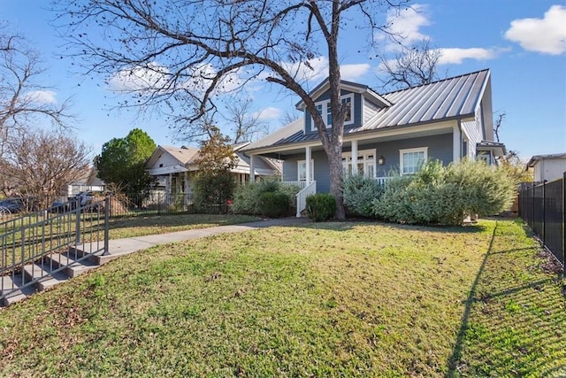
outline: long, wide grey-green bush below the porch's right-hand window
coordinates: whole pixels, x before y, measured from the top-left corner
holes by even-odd
[[[508,209],[514,188],[508,174],[484,162],[442,166],[432,160],[417,174],[388,181],[371,209],[376,217],[398,223],[458,225],[470,214]]]

